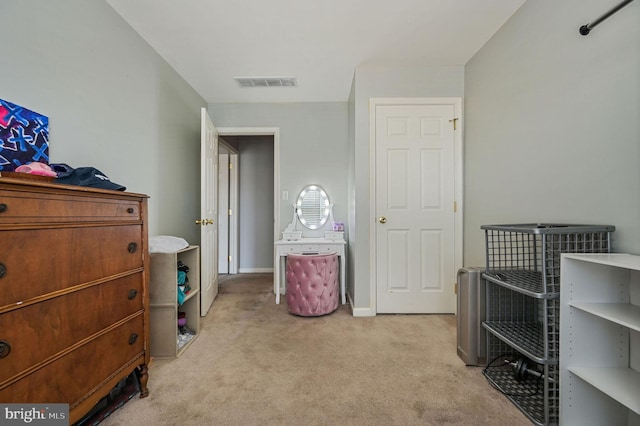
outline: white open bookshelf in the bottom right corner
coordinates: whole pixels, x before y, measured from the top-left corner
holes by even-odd
[[[640,425],[640,256],[563,254],[560,423]]]

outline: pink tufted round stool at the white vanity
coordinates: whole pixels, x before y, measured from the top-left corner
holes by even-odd
[[[330,314],[338,309],[338,255],[287,255],[289,312],[303,317]]]

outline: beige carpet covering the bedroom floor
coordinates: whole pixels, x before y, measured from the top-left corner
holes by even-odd
[[[453,315],[302,318],[272,274],[229,276],[193,344],[154,360],[147,398],[102,425],[530,425],[456,355]]]

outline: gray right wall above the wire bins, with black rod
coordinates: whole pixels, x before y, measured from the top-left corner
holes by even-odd
[[[529,0],[465,68],[464,263],[480,225],[616,225],[640,253],[640,3]]]

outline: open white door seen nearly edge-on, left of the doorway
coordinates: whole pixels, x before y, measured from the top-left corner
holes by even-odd
[[[201,110],[200,154],[200,315],[218,294],[218,132],[206,108]]]

